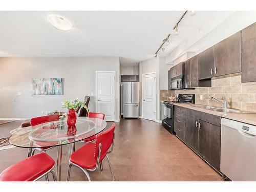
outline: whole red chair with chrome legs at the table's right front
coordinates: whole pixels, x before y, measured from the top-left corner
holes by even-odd
[[[90,172],[96,170],[99,163],[102,162],[105,157],[108,159],[113,181],[115,181],[115,176],[108,157],[108,154],[113,150],[114,139],[115,123],[112,124],[110,129],[96,135],[95,143],[87,143],[72,153],[69,159],[67,181],[69,181],[70,178],[70,170],[72,165],[80,168],[83,173],[86,174],[88,180],[91,181],[87,170]]]

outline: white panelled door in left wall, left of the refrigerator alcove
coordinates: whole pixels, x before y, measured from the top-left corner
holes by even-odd
[[[96,112],[115,120],[115,72],[96,71]]]

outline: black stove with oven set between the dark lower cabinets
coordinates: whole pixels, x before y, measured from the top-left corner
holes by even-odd
[[[163,127],[170,132],[174,132],[174,103],[195,103],[195,94],[179,94],[178,101],[161,102],[161,119]]]

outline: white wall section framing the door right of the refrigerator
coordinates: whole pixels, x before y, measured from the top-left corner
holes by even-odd
[[[160,120],[160,98],[159,98],[159,58],[154,57],[139,63],[140,73],[140,103],[142,105],[142,74],[156,72],[156,120]],[[140,116],[142,107],[140,106]]]

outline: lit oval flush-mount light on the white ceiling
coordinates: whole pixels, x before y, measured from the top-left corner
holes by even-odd
[[[57,29],[62,31],[68,31],[72,28],[71,23],[64,17],[58,15],[49,15],[49,22]]]

